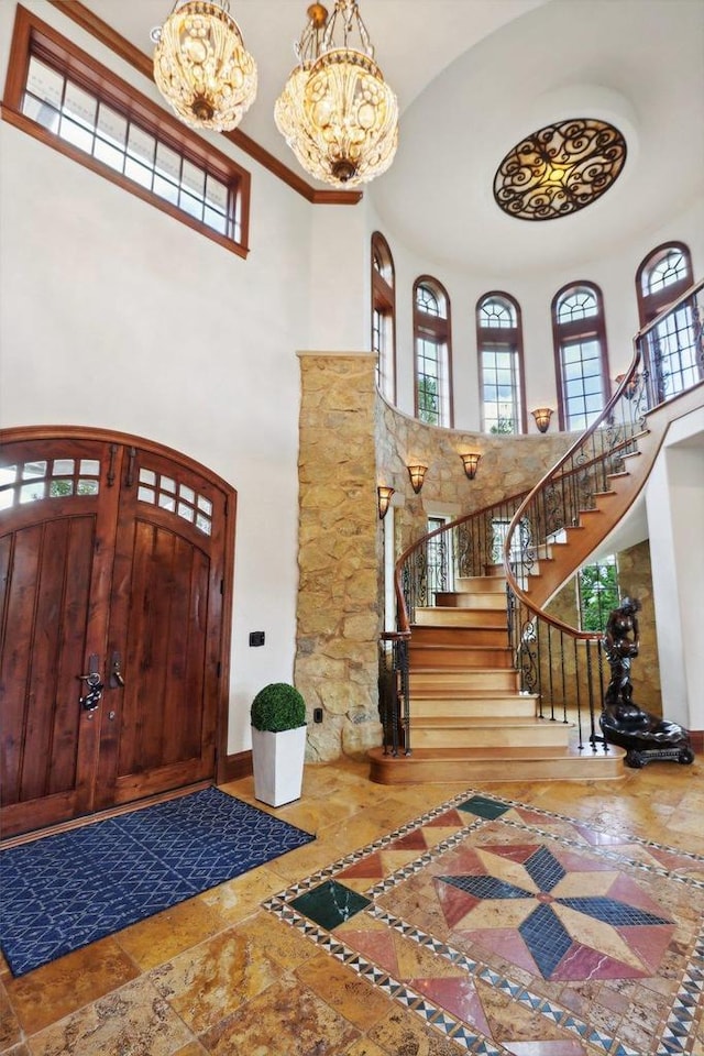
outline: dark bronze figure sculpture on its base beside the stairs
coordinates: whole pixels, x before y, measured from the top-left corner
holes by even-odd
[[[623,597],[606,624],[602,648],[610,668],[600,725],[606,741],[626,749],[626,765],[635,769],[652,759],[690,763],[694,752],[686,729],[638,707],[632,701],[630,668],[640,651],[637,613],[640,602]]]

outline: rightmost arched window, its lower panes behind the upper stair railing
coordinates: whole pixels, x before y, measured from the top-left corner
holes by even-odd
[[[636,273],[640,326],[649,322],[678,300],[692,285],[692,260],[682,242],[659,245],[642,261]],[[689,304],[670,312],[645,334],[646,366],[654,380],[660,400],[696,385],[702,380],[696,339]]]

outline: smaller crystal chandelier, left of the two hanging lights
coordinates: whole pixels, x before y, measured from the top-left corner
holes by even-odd
[[[156,86],[191,128],[233,129],[254,102],[256,64],[229,10],[229,0],[176,0],[152,30]]]

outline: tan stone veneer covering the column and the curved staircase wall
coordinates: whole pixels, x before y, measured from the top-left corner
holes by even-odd
[[[376,485],[395,488],[394,553],[398,557],[425,535],[429,515],[460,517],[527,491],[574,437],[559,432],[493,437],[427,426],[397,411],[378,395],[374,356],[306,352],[299,360],[299,588],[294,681],[308,708],[307,758],[326,761],[362,754],[382,739],[377,678],[384,610],[383,529]],[[464,474],[460,453],[465,451],[482,454],[474,481]],[[406,469],[411,461],[428,465],[419,495],[414,493]],[[648,553],[638,551],[634,548],[619,556],[619,568],[624,588],[628,584],[644,603],[641,654],[648,664],[634,671],[639,680],[638,703],[656,711],[651,689],[657,685],[659,690],[657,653],[648,638],[654,637],[654,629],[652,625],[647,629],[648,612],[652,613],[650,563]],[[573,587],[570,608],[574,608]],[[316,707],[322,708],[320,724],[312,723]]]

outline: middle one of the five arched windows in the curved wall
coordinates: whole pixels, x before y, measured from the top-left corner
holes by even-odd
[[[476,346],[484,432],[526,431],[520,308],[508,294],[492,293],[476,306]]]

